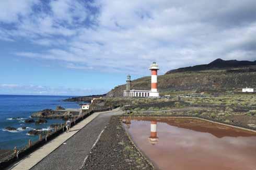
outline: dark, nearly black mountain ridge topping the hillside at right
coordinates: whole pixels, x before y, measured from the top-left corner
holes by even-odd
[[[203,70],[213,70],[213,69],[242,68],[242,67],[248,67],[248,66],[256,66],[256,60],[255,61],[238,61],[238,60],[222,60],[219,58],[208,64],[170,70],[166,72],[166,74],[185,72],[185,71],[203,71]]]

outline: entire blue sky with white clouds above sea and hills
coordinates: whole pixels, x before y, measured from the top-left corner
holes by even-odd
[[[0,94],[106,93],[153,61],[255,60],[255,40],[252,0],[0,1]]]

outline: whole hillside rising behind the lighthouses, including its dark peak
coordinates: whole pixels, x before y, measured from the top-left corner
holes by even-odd
[[[255,65],[255,61],[217,59],[210,64],[169,71],[165,75],[158,76],[158,89],[160,95],[163,95],[173,91],[226,93],[229,91],[238,92],[245,87],[255,88],[256,65],[253,66],[253,64]],[[150,80],[150,76],[134,80],[132,81],[132,89],[150,90]],[[122,96],[124,89],[125,84],[117,86],[109,91],[107,96]]]

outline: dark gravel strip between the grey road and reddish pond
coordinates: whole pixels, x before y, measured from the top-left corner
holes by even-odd
[[[122,127],[120,117],[112,116],[109,125],[91,150],[83,169],[155,169],[136,149]]]

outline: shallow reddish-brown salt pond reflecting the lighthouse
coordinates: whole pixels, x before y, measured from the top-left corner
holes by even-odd
[[[159,169],[256,169],[255,133],[196,119],[134,119],[124,127]]]

